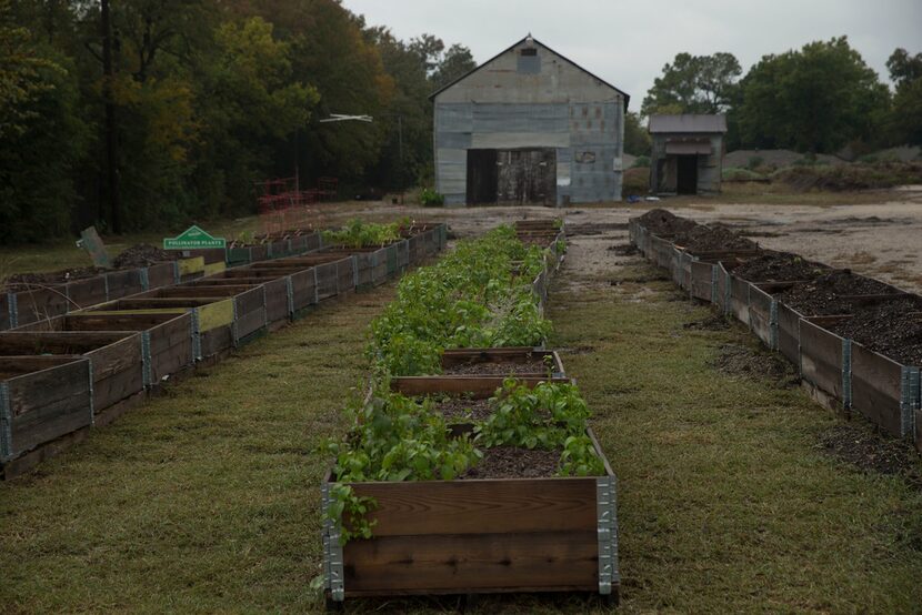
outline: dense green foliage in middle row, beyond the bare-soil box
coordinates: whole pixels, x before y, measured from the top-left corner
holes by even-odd
[[[550,323],[538,312],[531,282],[543,259],[508,226],[459,242],[433,266],[400,281],[397,299],[371,323],[369,355],[389,374],[435,374],[444,349],[539,344]],[[521,263],[518,275],[513,262]]]

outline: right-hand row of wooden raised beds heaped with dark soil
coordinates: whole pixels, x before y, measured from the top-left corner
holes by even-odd
[[[922,451],[922,298],[665,210],[632,219],[630,233],[692,298],[796,365],[814,399]]]

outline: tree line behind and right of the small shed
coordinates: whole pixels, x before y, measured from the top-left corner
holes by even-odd
[[[743,75],[732,53],[679,53],[627,123],[625,150],[649,152],[643,118],[725,113],[726,147],[862,154],[922,144],[922,53],[896,49],[891,90],[846,37],[764,56]]]

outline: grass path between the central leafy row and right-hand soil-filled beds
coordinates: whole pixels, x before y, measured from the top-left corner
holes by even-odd
[[[568,273],[550,317],[619,475],[624,612],[918,612],[918,490],[816,450],[836,420],[799,389],[712,367],[721,344],[761,351],[687,330],[710,310],[631,282],[652,266]]]

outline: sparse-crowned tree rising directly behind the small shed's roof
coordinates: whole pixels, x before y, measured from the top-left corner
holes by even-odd
[[[679,53],[663,67],[662,77],[643,99],[641,113],[721,113],[733,102],[742,74],[732,53],[712,56]]]

